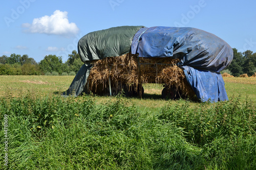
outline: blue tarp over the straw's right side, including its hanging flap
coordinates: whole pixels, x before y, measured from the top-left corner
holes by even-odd
[[[220,71],[231,63],[233,51],[216,35],[195,28],[141,28],[131,50],[139,57],[178,58],[178,65],[199,99],[228,100]]]

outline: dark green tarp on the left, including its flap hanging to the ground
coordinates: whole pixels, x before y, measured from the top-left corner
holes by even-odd
[[[117,57],[131,52],[134,35],[143,26],[122,26],[91,32],[78,41],[78,53],[84,62],[63,96],[78,96],[86,86],[92,68],[91,61]]]

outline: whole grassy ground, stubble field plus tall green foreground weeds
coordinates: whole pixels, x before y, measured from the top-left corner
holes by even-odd
[[[162,100],[157,84],[61,97],[73,78],[0,76],[0,169],[256,169],[256,78],[224,78],[218,103]]]

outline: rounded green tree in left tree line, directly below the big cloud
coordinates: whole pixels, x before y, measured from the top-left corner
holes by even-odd
[[[48,55],[40,61],[39,66],[44,73],[56,71],[61,74],[62,59],[56,55]]]

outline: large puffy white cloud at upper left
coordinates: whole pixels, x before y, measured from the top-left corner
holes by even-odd
[[[27,28],[25,32],[55,35],[74,35],[79,29],[74,22],[69,22],[68,12],[54,11],[51,16],[34,18],[32,24],[23,23],[22,27]]]

